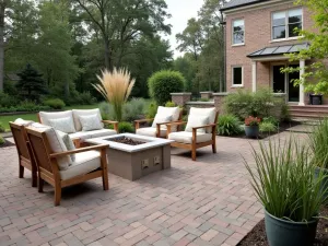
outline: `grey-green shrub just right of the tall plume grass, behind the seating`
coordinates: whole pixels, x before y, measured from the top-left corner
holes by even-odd
[[[124,120],[133,121],[142,118],[147,110],[147,102],[143,98],[132,98],[124,106]]]

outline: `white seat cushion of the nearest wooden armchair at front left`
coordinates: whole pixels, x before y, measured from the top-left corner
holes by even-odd
[[[60,171],[62,180],[67,180],[79,175],[87,174],[101,167],[101,154],[98,151],[86,151],[75,154],[75,162],[66,171]]]

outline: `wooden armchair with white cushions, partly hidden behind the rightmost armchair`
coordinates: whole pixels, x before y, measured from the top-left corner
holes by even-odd
[[[169,116],[171,120],[161,120],[160,118]],[[172,122],[180,122],[183,118],[183,109],[178,107],[159,107],[155,118],[134,120],[136,133],[141,136],[149,136],[155,138],[167,138],[166,125]],[[160,122],[157,122],[159,120]],[[140,124],[155,121],[151,127],[141,128]]]

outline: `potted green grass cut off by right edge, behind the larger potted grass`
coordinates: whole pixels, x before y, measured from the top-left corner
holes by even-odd
[[[309,148],[312,150],[313,164],[316,166],[315,176],[320,172],[326,176],[323,181],[323,189],[328,189],[328,119],[325,118],[314,128],[314,131],[308,134]],[[328,198],[328,192],[325,194]]]

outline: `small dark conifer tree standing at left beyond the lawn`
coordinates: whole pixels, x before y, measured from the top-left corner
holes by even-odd
[[[31,65],[27,65],[17,75],[20,81],[16,83],[16,87],[25,98],[39,101],[39,96],[47,93],[45,81],[42,79],[43,74],[38,73]]]

